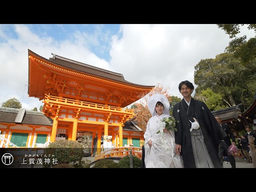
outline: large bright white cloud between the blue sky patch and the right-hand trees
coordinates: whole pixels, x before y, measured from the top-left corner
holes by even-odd
[[[125,24],[120,30],[122,38],[114,36],[110,49],[111,69],[133,83],[170,86],[180,98],[178,84],[194,84],[194,66],[223,53],[230,42],[216,24]]]

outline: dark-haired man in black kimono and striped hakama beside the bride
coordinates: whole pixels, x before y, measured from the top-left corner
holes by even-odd
[[[179,91],[183,96],[173,108],[177,121],[175,132],[176,152],[182,155],[185,168],[221,168],[218,156],[218,142],[226,136],[214,116],[199,100],[191,97],[194,86],[189,81],[180,82]],[[194,121],[199,128],[191,128]]]

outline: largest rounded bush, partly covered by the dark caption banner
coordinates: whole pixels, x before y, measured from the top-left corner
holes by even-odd
[[[52,166],[52,155],[58,164],[81,163],[84,154],[83,145],[72,140],[57,140],[44,149],[44,155],[51,156],[51,162],[44,166]]]

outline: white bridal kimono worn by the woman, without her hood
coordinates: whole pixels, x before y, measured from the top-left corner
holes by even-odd
[[[146,168],[184,168],[182,157],[175,152],[174,131],[171,134],[156,133],[159,130],[156,124],[164,117],[170,115],[154,115],[148,121],[144,134]],[[149,140],[152,141],[151,147],[148,145]]]

